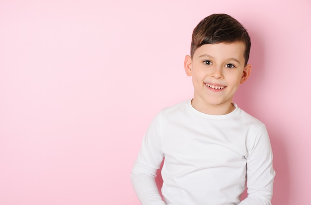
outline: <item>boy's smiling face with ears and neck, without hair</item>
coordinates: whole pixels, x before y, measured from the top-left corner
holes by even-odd
[[[194,108],[213,115],[233,111],[233,95],[251,70],[250,65],[244,66],[244,49],[242,42],[205,44],[192,58],[185,57],[184,68],[194,86]]]

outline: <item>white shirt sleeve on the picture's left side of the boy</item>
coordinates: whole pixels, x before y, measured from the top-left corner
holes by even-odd
[[[156,170],[163,160],[160,135],[160,115],[146,132],[141,150],[131,173],[133,188],[142,205],[165,205],[156,186]]]

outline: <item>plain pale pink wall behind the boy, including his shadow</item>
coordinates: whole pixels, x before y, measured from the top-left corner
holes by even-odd
[[[274,205],[310,205],[310,0],[0,0],[0,205],[139,205],[130,172],[156,113],[193,95],[196,24],[237,18],[264,122]]]

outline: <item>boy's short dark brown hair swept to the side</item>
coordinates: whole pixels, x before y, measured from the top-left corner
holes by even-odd
[[[240,22],[228,14],[219,13],[205,17],[192,32],[190,55],[204,44],[243,42],[245,65],[249,59],[250,37]]]

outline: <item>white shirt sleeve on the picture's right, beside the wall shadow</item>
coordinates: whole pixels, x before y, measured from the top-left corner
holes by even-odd
[[[265,126],[247,146],[247,198],[238,205],[271,205],[275,171],[272,167],[272,149]]]

